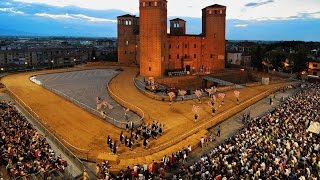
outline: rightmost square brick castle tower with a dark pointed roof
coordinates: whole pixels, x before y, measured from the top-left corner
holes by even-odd
[[[226,47],[226,6],[214,4],[202,9],[202,35],[205,49],[203,65],[209,69],[224,69]]]

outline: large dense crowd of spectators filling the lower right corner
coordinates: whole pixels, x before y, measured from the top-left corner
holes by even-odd
[[[256,117],[191,166],[182,179],[312,179],[320,177],[320,85],[307,85],[274,111]]]

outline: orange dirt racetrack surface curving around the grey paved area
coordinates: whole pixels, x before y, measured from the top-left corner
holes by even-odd
[[[16,96],[20,97],[23,102],[31,107],[49,130],[56,132],[59,137],[63,137],[78,149],[90,150],[89,157],[92,159],[97,157],[101,158],[101,155],[106,159],[114,158],[108,154],[106,137],[107,135],[111,135],[115,140],[118,140],[121,130],[82,110],[62,97],[32,83],[29,77],[39,73],[47,72],[10,75],[4,77],[2,82],[8,89],[14,92]],[[165,134],[159,137],[158,140],[152,140],[151,148],[161,146],[181,134],[188,133],[191,129],[199,127],[209,120],[215,121],[215,119],[212,118],[210,107],[204,103],[208,101],[207,98],[202,99],[202,104],[191,100],[183,103],[174,103],[169,107],[167,102],[149,99],[136,89],[133,84],[133,77],[136,73],[136,68],[125,68],[124,72],[120,73],[111,81],[110,89],[119,97],[141,108],[148,117],[146,118],[147,123],[157,120],[165,124]],[[250,99],[278,86],[279,84],[241,89],[239,90],[241,92],[240,99],[241,101]],[[218,100],[218,102],[220,102],[220,100]],[[193,113],[191,111],[191,107],[194,104],[201,107],[200,117],[196,123],[193,121]],[[236,106],[233,91],[227,92],[225,105],[217,110],[216,116]],[[198,136],[201,137],[202,135],[203,132],[199,133]],[[183,145],[187,145],[187,143],[194,145],[198,143],[197,138],[200,137],[191,138],[192,140],[184,142]],[[181,144],[176,148],[182,148]],[[168,149],[165,153],[170,154],[172,153],[171,151],[174,151],[176,148]],[[83,155],[83,153],[80,153],[80,151],[74,148],[71,148],[71,150],[75,154]],[[142,147],[136,147],[133,153],[138,153],[136,154],[138,156],[144,153],[148,154],[148,151],[149,150],[144,150]],[[120,147],[120,153],[120,158],[123,160],[120,163],[123,165],[137,163],[136,161],[138,161],[138,159],[132,159],[133,153],[128,151],[127,148]],[[161,155],[158,154],[156,159]],[[131,157],[131,160],[126,162],[126,157]],[[143,158],[141,161],[149,161],[149,159]]]

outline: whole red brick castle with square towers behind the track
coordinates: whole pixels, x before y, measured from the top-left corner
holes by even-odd
[[[118,16],[118,62],[139,64],[145,77],[161,77],[183,69],[211,72],[224,69],[226,7],[202,9],[202,33],[186,34],[186,21],[170,20],[167,0],[139,0],[140,17]]]

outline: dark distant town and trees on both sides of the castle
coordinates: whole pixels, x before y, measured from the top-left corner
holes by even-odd
[[[3,72],[118,61],[116,38],[1,37],[0,48]],[[229,40],[225,66],[319,76],[320,42]]]

